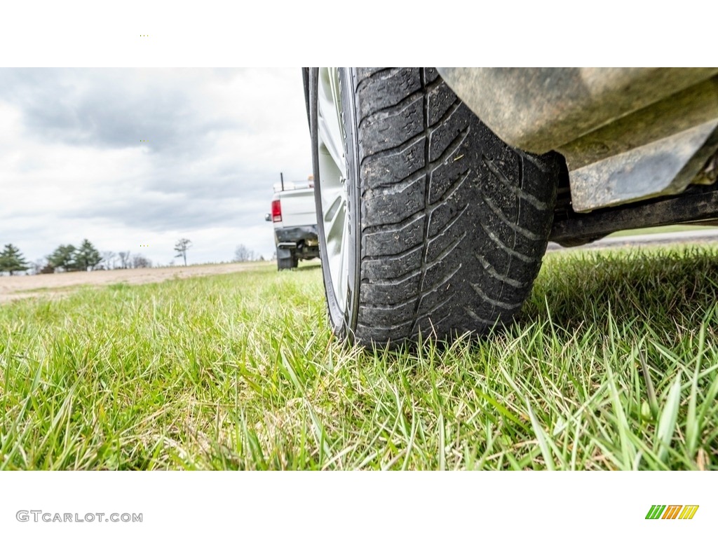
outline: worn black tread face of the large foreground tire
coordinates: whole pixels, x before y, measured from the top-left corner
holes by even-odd
[[[518,313],[551,230],[558,154],[526,156],[433,68],[353,73],[361,344],[485,333]]]

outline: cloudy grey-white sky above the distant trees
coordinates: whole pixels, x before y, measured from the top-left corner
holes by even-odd
[[[87,237],[157,265],[269,257],[273,184],[311,173],[294,69],[0,69],[0,244]],[[149,245],[149,246],[141,246]]]

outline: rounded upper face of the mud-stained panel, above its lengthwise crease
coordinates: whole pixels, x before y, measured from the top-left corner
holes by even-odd
[[[718,74],[715,67],[439,67],[512,146],[545,153]]]

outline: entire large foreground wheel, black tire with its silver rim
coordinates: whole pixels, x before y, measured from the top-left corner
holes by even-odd
[[[563,158],[507,146],[433,68],[308,75],[335,333],[393,346],[510,321],[541,267]]]

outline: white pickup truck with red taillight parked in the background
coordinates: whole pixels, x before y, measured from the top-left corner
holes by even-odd
[[[307,184],[284,180],[275,184],[271,213],[265,219],[274,223],[278,270],[296,268],[299,260],[319,258],[313,176]]]

